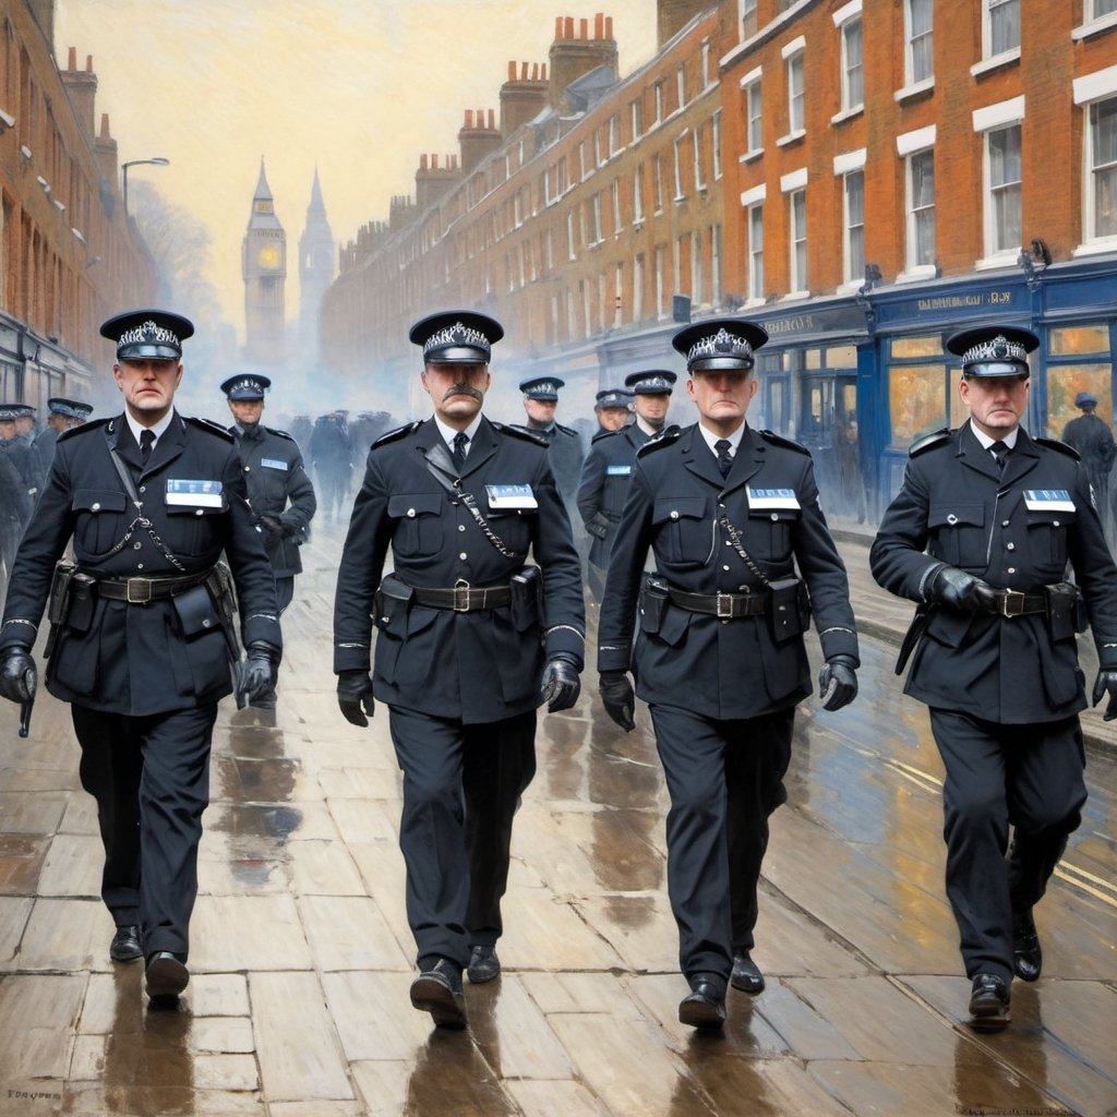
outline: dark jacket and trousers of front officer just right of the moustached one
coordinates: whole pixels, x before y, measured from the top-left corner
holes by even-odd
[[[752,946],[767,814],[785,798],[794,707],[812,689],[802,636],[777,641],[770,615],[723,620],[671,603],[655,618],[640,607],[649,548],[674,591],[765,592],[723,516],[767,581],[798,570],[824,656],[856,661],[858,647],[846,569],[802,447],[746,426],[724,479],[697,426],[641,448],[609,563],[598,670],[631,669],[651,706],[671,793],[668,890],[688,976],[727,977],[734,951]]]

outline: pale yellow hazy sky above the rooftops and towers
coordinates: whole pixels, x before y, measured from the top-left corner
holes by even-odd
[[[209,274],[244,340],[240,245],[265,159],[287,233],[287,317],[317,165],[334,240],[457,153],[465,109],[499,111],[508,63],[546,63],[555,18],[613,19],[622,75],[656,46],[656,0],[57,0],[55,52],[93,55],[120,161],[209,229]]]

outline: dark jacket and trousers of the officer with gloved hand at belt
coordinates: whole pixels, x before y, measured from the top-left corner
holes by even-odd
[[[917,602],[944,563],[1042,600],[1068,561],[1099,661],[1117,666],[1117,569],[1077,454],[1018,428],[1002,475],[970,423],[913,447],[870,551],[876,580]],[[1010,910],[1043,895],[1086,800],[1077,643],[1072,631],[1053,638],[1042,610],[1005,617],[935,605],[928,615],[905,691],[930,707],[946,764],[947,895],[967,974],[1008,981]]]

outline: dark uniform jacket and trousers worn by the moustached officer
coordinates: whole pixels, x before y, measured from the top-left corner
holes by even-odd
[[[439,450],[446,443],[430,419],[369,452],[337,572],[334,670],[369,669],[375,618],[374,694],[391,709],[404,772],[409,922],[420,958],[465,965],[471,945],[490,945],[502,929],[512,815],[534,774],[544,655],[570,652],[581,663],[584,605],[546,447],[486,419],[470,442],[460,488],[507,554],[431,474],[427,457]],[[529,486],[536,506],[495,506],[487,486],[509,485]],[[507,586],[531,555],[542,569],[542,617],[507,605],[393,607],[376,596],[389,547],[409,588]]]

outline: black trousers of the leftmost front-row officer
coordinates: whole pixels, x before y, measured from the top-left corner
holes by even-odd
[[[147,717],[70,714],[105,847],[102,898],[118,927],[140,925],[145,954],[185,960],[217,704]]]

